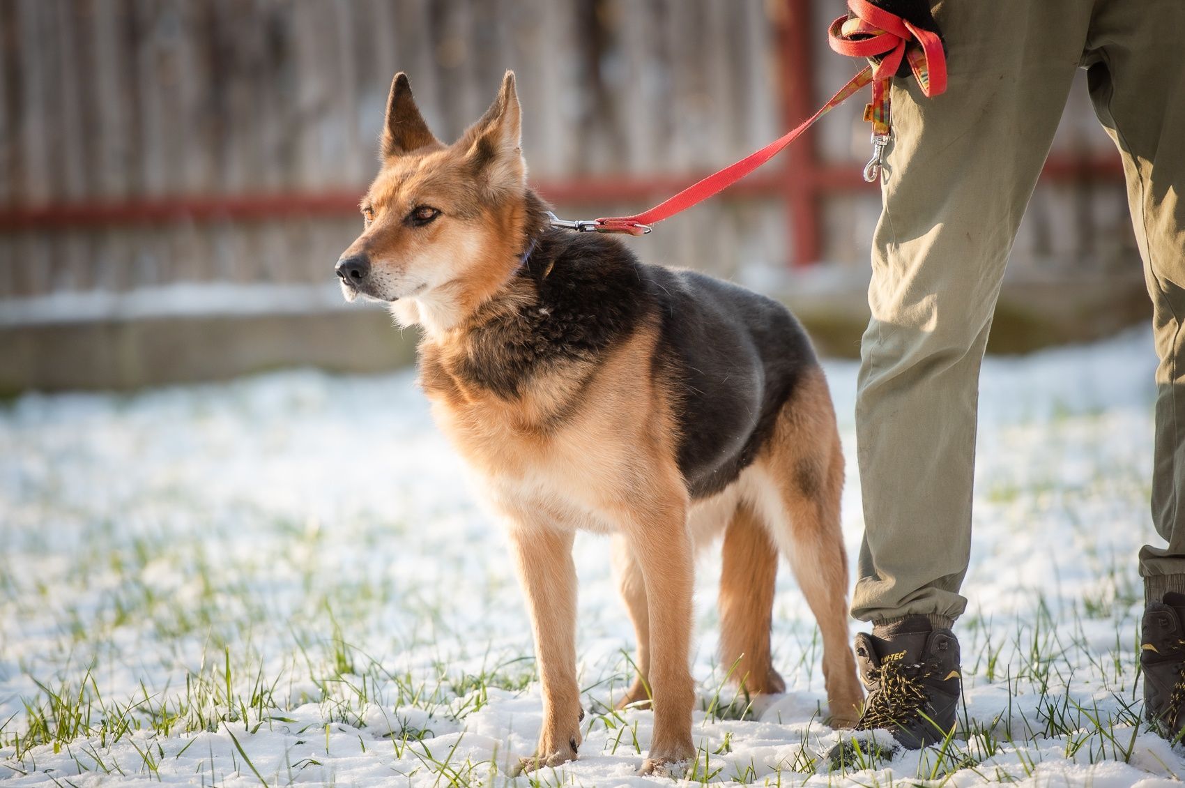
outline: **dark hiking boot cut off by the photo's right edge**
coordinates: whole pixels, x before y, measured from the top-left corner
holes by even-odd
[[[1140,627],[1144,716],[1162,737],[1179,742],[1185,728],[1185,594],[1149,602]]]

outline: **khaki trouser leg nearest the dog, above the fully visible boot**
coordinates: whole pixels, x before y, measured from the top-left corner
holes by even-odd
[[[852,615],[949,627],[971,546],[979,367],[1005,262],[1081,62],[1090,2],[943,2],[949,84],[893,79],[856,405]]]

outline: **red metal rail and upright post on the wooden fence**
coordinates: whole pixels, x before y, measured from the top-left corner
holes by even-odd
[[[782,122],[786,128],[815,109],[812,90],[812,46],[818,28],[811,0],[784,0],[779,24]],[[771,166],[729,188],[725,197],[777,196],[786,203],[790,262],[809,265],[820,257],[820,205],[835,192],[875,190],[860,177],[860,165],[833,165],[818,159],[813,132],[803,134]],[[706,173],[671,177],[574,178],[538,182],[540,193],[558,205],[658,201]],[[1123,177],[1119,156],[1090,159],[1055,156],[1042,171],[1045,180],[1115,180]],[[124,203],[82,201],[0,207],[0,232],[114,225],[156,225],[186,222],[257,222],[302,216],[346,216],[358,211],[363,187],[318,193],[241,196],[177,196]]]

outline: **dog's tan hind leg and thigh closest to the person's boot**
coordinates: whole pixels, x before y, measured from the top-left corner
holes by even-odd
[[[844,456],[822,370],[803,373],[782,406],[757,463],[755,502],[787,553],[822,635],[822,674],[832,726],[851,726],[863,692],[848,646],[847,557],[840,530]]]

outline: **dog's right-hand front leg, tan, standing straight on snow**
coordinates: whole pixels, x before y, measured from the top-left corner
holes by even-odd
[[[696,755],[691,742],[696,687],[687,665],[694,559],[685,505],[662,501],[639,512],[628,538],[646,584],[649,613],[654,735],[641,773],[653,774]]]

